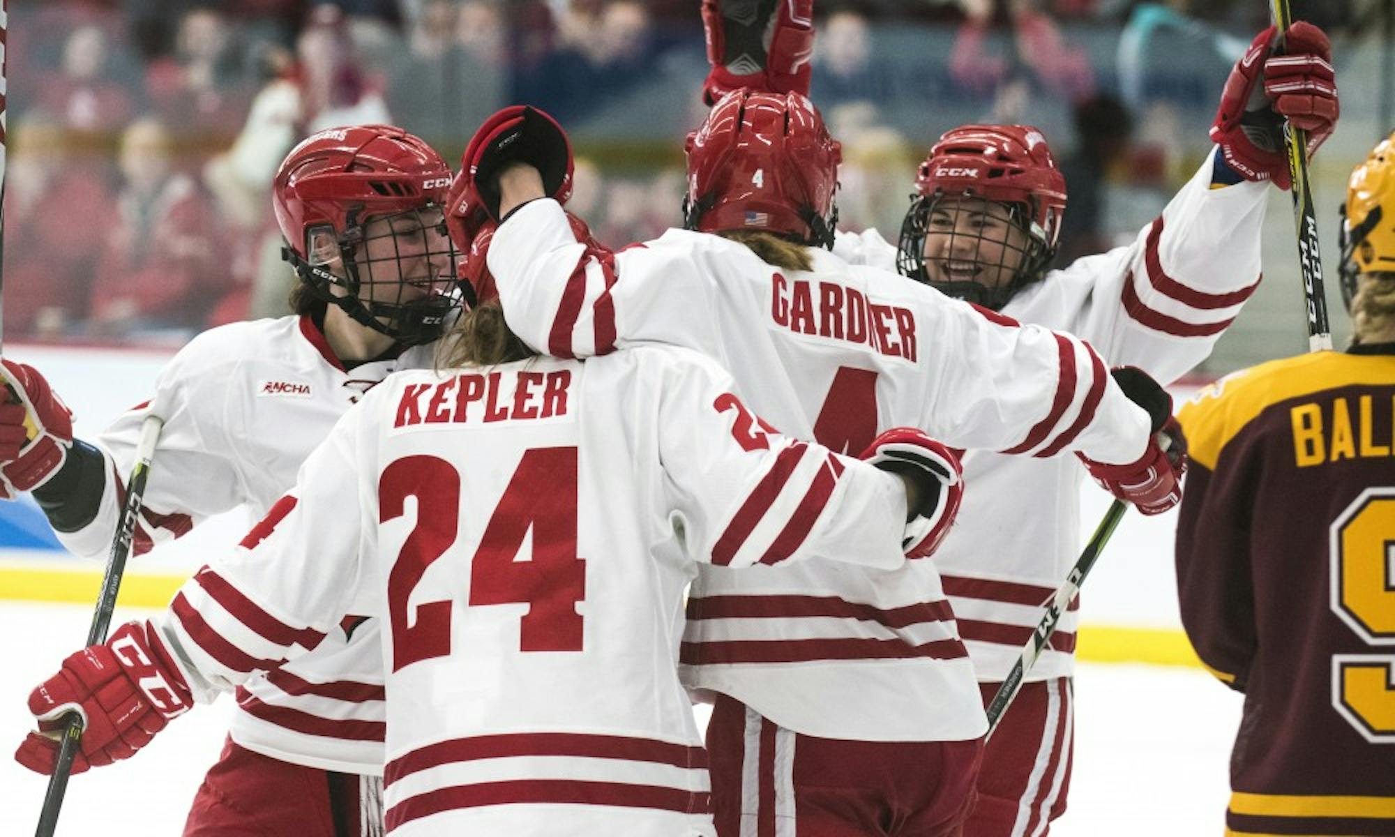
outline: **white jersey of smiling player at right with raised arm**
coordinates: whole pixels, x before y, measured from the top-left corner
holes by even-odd
[[[1137,365],[1170,384],[1211,354],[1260,283],[1267,184],[1211,187],[1207,163],[1127,247],[1050,271],[1003,314],[1089,340],[1110,365]],[[838,234],[834,252],[896,269],[876,230]],[[1073,456],[964,456],[958,523],[935,554],[978,677],[1002,681],[1080,557],[1080,480]],[[1127,561],[1127,555],[1117,555]],[[1076,603],[1027,674],[1074,671]]]

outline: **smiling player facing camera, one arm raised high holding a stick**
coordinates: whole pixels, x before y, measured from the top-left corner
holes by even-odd
[[[834,252],[1080,335],[1110,364],[1170,384],[1211,353],[1258,286],[1265,181],[1289,187],[1282,119],[1310,131],[1310,153],[1336,121],[1327,36],[1293,24],[1286,54],[1271,57],[1274,39],[1272,28],[1260,33],[1226,81],[1209,159],[1127,247],[1048,269],[1066,183],[1046,140],[1030,126],[964,126],[921,163],[898,247],[868,230],[840,234]],[[935,562],[986,703],[1080,554],[1080,470],[988,451],[968,452],[964,470],[975,488]],[[970,837],[1045,834],[1066,810],[1076,625],[1071,610],[989,742]]]

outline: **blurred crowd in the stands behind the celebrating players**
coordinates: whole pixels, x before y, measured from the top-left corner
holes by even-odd
[[[338,124],[400,124],[451,159],[497,107],[533,103],[575,128],[575,209],[603,241],[678,223],[706,71],[698,0],[10,6],[7,336],[180,340],[287,311],[271,179]],[[1156,212],[1264,22],[1262,4],[1219,0],[816,8],[813,96],[845,145],[847,227],[894,236],[940,131],[1031,121],[1066,169],[1069,254]],[[1363,8],[1295,3],[1336,36]],[[1133,211],[1112,211],[1120,190]]]

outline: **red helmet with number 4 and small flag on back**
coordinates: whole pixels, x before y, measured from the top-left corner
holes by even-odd
[[[739,89],[688,135],[684,226],[764,230],[833,247],[843,146],[799,93]]]

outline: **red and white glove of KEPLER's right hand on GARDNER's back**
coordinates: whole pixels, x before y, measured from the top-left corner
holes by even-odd
[[[914,427],[893,427],[872,439],[859,459],[919,483],[921,504],[911,509],[901,548],[907,558],[928,558],[954,525],[964,498],[958,453]]]

